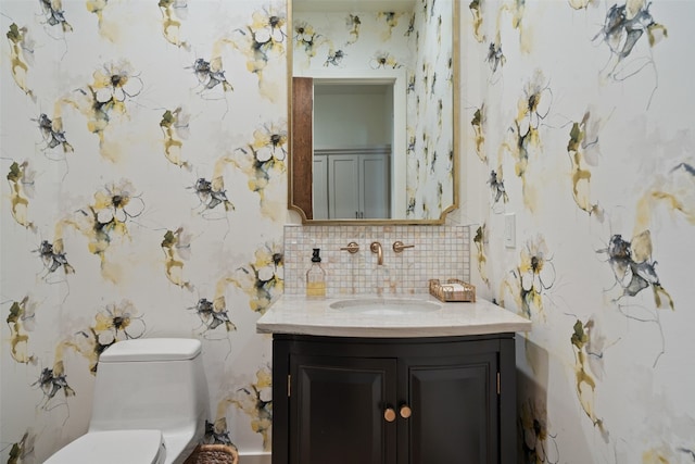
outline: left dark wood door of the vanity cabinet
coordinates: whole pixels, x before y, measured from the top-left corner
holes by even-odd
[[[290,376],[290,463],[395,464],[395,360],[295,354]]]

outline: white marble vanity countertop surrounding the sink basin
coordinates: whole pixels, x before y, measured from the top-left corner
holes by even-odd
[[[388,297],[441,305],[435,311],[402,314],[365,314],[330,308],[341,300],[376,298],[364,294],[312,300],[282,296],[258,318],[256,331],[331,337],[447,337],[531,330],[529,319],[481,299],[458,303],[441,302],[429,294]]]

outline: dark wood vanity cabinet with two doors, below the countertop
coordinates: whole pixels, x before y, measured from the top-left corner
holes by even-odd
[[[273,464],[516,462],[514,334],[275,334]]]

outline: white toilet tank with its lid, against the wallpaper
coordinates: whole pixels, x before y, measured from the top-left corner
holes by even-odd
[[[99,358],[89,430],[204,429],[207,398],[200,340],[119,341]]]

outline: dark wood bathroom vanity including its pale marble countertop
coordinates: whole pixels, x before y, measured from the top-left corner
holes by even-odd
[[[273,463],[516,462],[515,333],[486,301],[283,297],[273,334]]]

